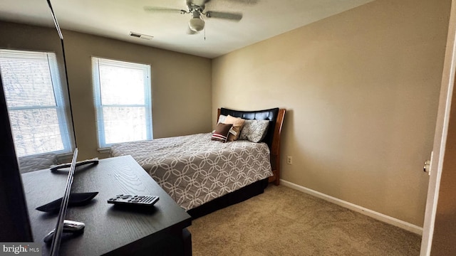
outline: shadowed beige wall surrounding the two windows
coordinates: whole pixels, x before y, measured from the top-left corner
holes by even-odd
[[[78,159],[107,156],[97,151],[91,56],[151,65],[155,138],[210,131],[211,60],[73,31],[63,31],[63,37]],[[0,48],[50,50],[63,63],[53,28],[0,22]]]

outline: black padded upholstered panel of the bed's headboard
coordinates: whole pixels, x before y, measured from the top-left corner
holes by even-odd
[[[279,107],[270,110],[256,110],[256,111],[239,111],[229,110],[227,108],[220,108],[220,114],[231,115],[232,117],[241,117],[242,119],[257,119],[257,120],[269,120],[269,127],[266,136],[262,142],[268,144],[269,149],[272,147],[274,139],[274,129],[276,126],[277,115],[279,114]]]

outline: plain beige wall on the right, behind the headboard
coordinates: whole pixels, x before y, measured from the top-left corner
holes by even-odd
[[[212,109],[286,108],[281,178],[423,226],[449,11],[377,0],[216,58]]]

